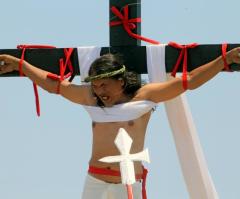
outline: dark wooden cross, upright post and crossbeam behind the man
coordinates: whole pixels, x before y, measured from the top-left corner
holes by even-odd
[[[110,0],[110,8],[116,6],[119,10],[122,10],[125,5],[129,5],[129,19],[141,17],[141,0]],[[110,21],[119,20],[110,10]],[[141,23],[136,23],[136,28],[132,30],[136,34],[141,34]],[[240,44],[229,44],[228,50],[238,47]],[[110,27],[110,47],[103,47],[101,54],[105,53],[120,53],[123,55],[125,65],[129,70],[135,71],[139,74],[147,73],[146,63],[146,47],[141,46],[141,41],[129,37],[128,33],[124,30],[122,25]],[[166,70],[171,72],[180,50],[171,46],[166,46]],[[16,57],[21,57],[22,50],[20,49],[2,49],[0,54],[10,54]],[[221,44],[211,45],[199,45],[196,48],[188,50],[188,71],[203,65],[216,57],[220,56]],[[55,73],[59,74],[59,59],[63,58],[63,48],[56,49],[27,49],[25,53],[25,60],[31,64]],[[79,63],[77,56],[77,48],[74,48],[71,61],[74,66],[74,75],[80,75]],[[233,71],[239,71],[239,65],[232,65]],[[179,68],[178,72],[181,72]],[[69,71],[66,71],[69,72]],[[1,75],[2,77],[19,76],[18,72],[12,72]]]

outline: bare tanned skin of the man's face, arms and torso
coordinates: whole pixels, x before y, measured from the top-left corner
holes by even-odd
[[[17,71],[19,59],[10,55],[0,55],[0,74]],[[235,48],[227,53],[227,64],[240,64],[240,48]],[[212,79],[218,72],[224,69],[224,62],[221,57],[204,64],[188,74],[188,89],[193,90]],[[30,63],[24,61],[22,71],[37,85],[50,93],[56,93],[58,81],[47,78],[47,71],[41,70]],[[81,105],[96,106],[96,99],[93,92],[103,101],[106,107],[114,104],[149,100],[155,103],[170,100],[185,92],[182,87],[181,78],[175,78],[165,83],[149,83],[141,87],[131,97],[123,93],[123,80],[100,79],[91,82],[91,86],[75,85],[66,80],[60,84],[60,94]],[[127,122],[108,122],[92,123],[93,145],[92,155],[89,164],[91,166],[119,170],[118,164],[107,164],[99,162],[100,158],[119,155],[119,151],[114,145],[114,139],[119,128],[125,128],[133,139],[131,153],[137,153],[143,150],[147,124],[149,122],[151,111],[132,121]],[[141,163],[135,163],[136,174],[142,173]],[[119,183],[120,177],[110,177],[104,175],[94,175],[96,178],[106,182]]]

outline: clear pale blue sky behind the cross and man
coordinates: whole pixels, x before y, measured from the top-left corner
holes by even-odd
[[[162,43],[240,43],[239,6],[238,0],[143,1],[142,35]],[[1,0],[0,48],[108,46],[108,9],[107,0]],[[240,198],[239,80],[238,73],[221,73],[187,93],[221,199]],[[91,121],[81,106],[39,93],[40,118],[32,83],[0,78],[0,198],[79,199],[91,154]],[[149,198],[188,198],[162,105],[152,116],[145,146],[152,161]]]

